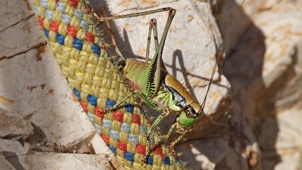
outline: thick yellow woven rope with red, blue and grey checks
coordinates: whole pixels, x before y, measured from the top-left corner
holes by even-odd
[[[114,112],[103,112],[131,91],[107,53],[107,44],[79,0],[29,0],[48,46],[93,126],[125,169],[184,169],[155,132],[150,156],[141,166],[151,122],[134,98]]]

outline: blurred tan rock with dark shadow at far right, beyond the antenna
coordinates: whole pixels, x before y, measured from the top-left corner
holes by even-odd
[[[228,45],[223,72],[234,114],[261,148],[263,169],[301,169],[301,8],[302,1],[245,1],[238,18],[246,20],[230,33],[237,41]],[[230,23],[224,13],[220,25]]]

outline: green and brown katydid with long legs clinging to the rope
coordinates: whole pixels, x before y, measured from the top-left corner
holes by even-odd
[[[171,112],[176,112],[176,114],[178,114],[176,122],[171,125],[171,128],[169,129],[166,135],[166,138],[168,139],[174,128],[176,128],[177,133],[180,133],[180,136],[178,136],[178,138],[176,138],[175,140],[173,140],[172,143],[170,143],[170,146],[173,147],[173,145],[178,143],[178,141],[183,138],[185,134],[192,130],[193,125],[197,121],[197,119],[201,115],[204,115],[203,110],[204,105],[206,103],[206,96],[209,93],[209,88],[212,84],[214,73],[216,72],[216,69],[218,67],[218,62],[216,62],[216,64],[214,65],[214,69],[211,73],[211,78],[209,79],[209,86],[206,89],[206,94],[202,105],[199,105],[199,103],[197,103],[197,100],[192,97],[192,95],[185,89],[183,84],[181,84],[178,79],[169,74],[162,60],[164,42],[166,40],[166,35],[168,33],[173,17],[176,14],[175,9],[160,8],[153,11],[145,11],[142,13],[133,13],[127,15],[114,15],[111,17],[107,17],[105,15],[105,17],[103,18],[98,18],[98,21],[106,21],[106,25],[108,27],[109,23],[107,22],[107,20],[129,18],[138,15],[148,15],[151,13],[159,13],[162,11],[169,11],[169,16],[166,21],[166,26],[164,27],[164,32],[162,34],[162,39],[160,40],[160,42],[158,43],[157,40],[157,22],[155,19],[152,19],[150,22],[147,40],[147,53],[145,62],[131,58],[127,59],[126,65],[124,65],[123,72],[126,75],[126,78],[129,79],[129,84],[133,86],[135,91],[130,93],[129,96],[126,96],[126,98],[124,98],[123,100],[119,101],[119,103],[114,105],[109,110],[116,109],[119,105],[125,103],[126,100],[130,98],[134,93],[137,93],[152,109],[162,112],[162,114],[159,115],[157,119],[155,119],[150,129],[148,129],[147,136],[150,136],[152,131],[154,131],[155,128],[159,125],[159,123],[162,122],[162,119],[164,119],[164,117],[168,116]],[[150,63],[148,63],[150,51],[150,37],[152,30],[155,37],[156,52]],[[228,30],[228,32],[230,32],[230,29]],[[225,37],[225,39],[227,39],[227,37]],[[110,36],[110,39],[114,41],[112,35]],[[112,44],[114,44],[115,51],[118,51],[116,44]],[[218,53],[217,60],[219,60],[221,54],[223,53],[223,44]],[[119,51],[117,53],[122,58],[122,54]],[[122,60],[124,60],[124,58],[122,58]],[[149,147],[150,145],[147,145],[145,156],[149,155]]]

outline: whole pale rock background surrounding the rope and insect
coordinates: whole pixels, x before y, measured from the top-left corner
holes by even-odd
[[[221,56],[206,116],[176,145],[189,167],[302,169],[302,1],[241,3],[93,0],[91,6],[101,14],[105,4],[110,15],[176,8],[163,59],[199,103]],[[27,2],[1,1],[0,16],[1,169],[121,169],[81,112]],[[143,59],[150,19],[157,18],[161,36],[166,16],[110,22],[124,57]],[[221,39],[226,55],[219,55]],[[160,124],[162,133],[175,117]]]

